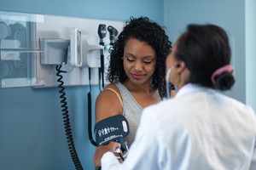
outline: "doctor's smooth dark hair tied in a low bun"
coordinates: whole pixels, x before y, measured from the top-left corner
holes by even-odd
[[[174,56],[177,60],[183,60],[188,67],[191,83],[219,90],[228,90],[235,83],[235,78],[229,71],[215,77],[215,83],[211,81],[214,71],[224,65],[230,65],[229,37],[219,26],[187,26],[187,31],[177,40]]]

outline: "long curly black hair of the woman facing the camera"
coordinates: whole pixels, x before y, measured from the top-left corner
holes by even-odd
[[[123,56],[126,42],[136,38],[139,41],[147,42],[154,48],[156,54],[156,68],[152,78],[152,87],[158,89],[162,98],[166,97],[166,55],[172,48],[172,42],[166,35],[163,27],[148,17],[133,18],[125,22],[123,31],[120,32],[113,47],[110,48],[110,62],[108,65],[107,79],[109,82],[125,82]]]

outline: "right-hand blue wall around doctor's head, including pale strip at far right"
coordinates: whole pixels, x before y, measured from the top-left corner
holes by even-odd
[[[164,25],[173,42],[190,23],[212,23],[227,31],[236,84],[224,94],[251,105],[256,111],[255,1],[164,0],[164,4]]]

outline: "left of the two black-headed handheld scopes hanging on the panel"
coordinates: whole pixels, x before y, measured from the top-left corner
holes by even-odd
[[[101,49],[101,68],[99,69],[99,77],[101,77],[100,72],[102,73],[102,88],[104,88],[104,42],[103,38],[106,37],[107,30],[105,24],[100,24],[98,27],[98,35],[100,37],[100,45],[102,45]]]

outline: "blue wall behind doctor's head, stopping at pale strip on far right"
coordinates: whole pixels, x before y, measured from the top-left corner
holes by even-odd
[[[185,26],[190,23],[212,23],[227,31],[232,48],[231,64],[235,67],[236,84],[225,94],[245,103],[245,1],[164,0],[164,3],[164,23],[172,41],[176,41]]]

